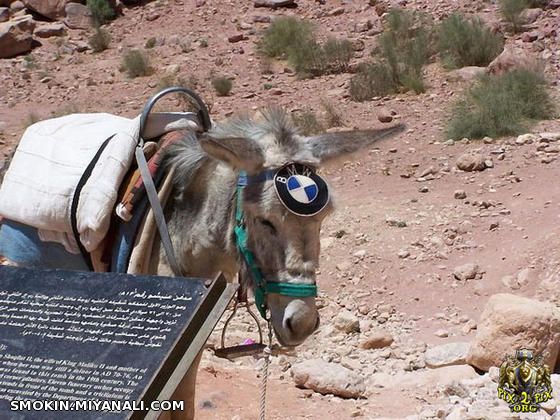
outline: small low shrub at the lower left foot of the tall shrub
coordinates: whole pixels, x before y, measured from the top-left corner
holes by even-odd
[[[365,63],[350,79],[350,98],[353,101],[369,101],[375,96],[395,92],[397,85],[391,69],[384,63]]]

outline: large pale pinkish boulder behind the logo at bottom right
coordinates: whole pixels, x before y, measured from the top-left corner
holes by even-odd
[[[467,362],[487,371],[522,347],[546,352],[545,363],[553,370],[560,348],[560,310],[550,302],[521,296],[491,296],[480,316]]]

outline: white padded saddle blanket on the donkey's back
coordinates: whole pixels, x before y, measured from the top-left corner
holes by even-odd
[[[0,186],[0,216],[38,228],[42,240],[79,253],[70,223],[72,198],[100,145],[114,134],[82,189],[77,209],[80,241],[88,252],[95,250],[107,234],[119,186],[134,158],[139,122],[139,117],[72,114],[28,127]],[[150,114],[145,137],[198,127],[193,113]]]

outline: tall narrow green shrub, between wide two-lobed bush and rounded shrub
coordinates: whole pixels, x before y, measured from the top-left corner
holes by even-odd
[[[404,90],[424,92],[422,68],[430,54],[430,26],[424,15],[393,9],[387,16],[379,43],[383,60],[395,84]]]

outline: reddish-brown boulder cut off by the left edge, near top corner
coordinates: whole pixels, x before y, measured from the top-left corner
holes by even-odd
[[[0,23],[0,58],[31,51],[35,22],[30,15]]]

